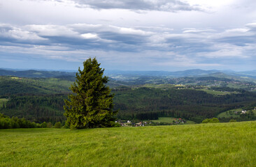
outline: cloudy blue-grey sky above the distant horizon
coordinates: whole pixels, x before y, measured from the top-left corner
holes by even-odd
[[[256,70],[255,0],[0,0],[0,68]]]

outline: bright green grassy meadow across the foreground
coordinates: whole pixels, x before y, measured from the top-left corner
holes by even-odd
[[[256,122],[2,129],[0,166],[256,166]]]

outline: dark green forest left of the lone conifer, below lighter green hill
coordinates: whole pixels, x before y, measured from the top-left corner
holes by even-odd
[[[64,98],[66,95],[11,96],[6,107],[0,112],[10,117],[24,117],[38,123],[64,122]]]

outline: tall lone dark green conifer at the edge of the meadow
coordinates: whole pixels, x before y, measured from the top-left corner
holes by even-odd
[[[104,69],[99,67],[96,58],[83,62],[83,70],[78,68],[76,81],[71,85],[73,93],[65,100],[64,116],[71,129],[113,127],[113,95],[106,86],[108,77],[103,76]]]

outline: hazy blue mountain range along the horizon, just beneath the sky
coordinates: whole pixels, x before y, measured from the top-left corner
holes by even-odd
[[[50,71],[50,70],[12,70],[1,69],[0,76],[15,76],[27,78],[48,78],[48,77],[72,77],[76,72]],[[113,79],[126,79],[134,77],[221,77],[238,80],[256,79],[256,70],[245,72],[222,71],[222,70],[184,70],[176,72],[167,71],[122,71],[122,70],[105,70],[106,76]]]

